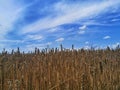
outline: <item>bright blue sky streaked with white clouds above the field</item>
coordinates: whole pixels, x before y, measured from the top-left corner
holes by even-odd
[[[115,47],[120,0],[0,0],[0,50]]]

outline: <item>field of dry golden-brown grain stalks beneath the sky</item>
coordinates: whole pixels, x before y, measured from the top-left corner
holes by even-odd
[[[120,90],[120,48],[4,51],[0,90]]]

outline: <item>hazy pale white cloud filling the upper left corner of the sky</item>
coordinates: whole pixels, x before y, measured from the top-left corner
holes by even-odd
[[[10,32],[14,23],[22,16],[22,12],[31,4],[20,6],[14,0],[0,0],[0,39]]]

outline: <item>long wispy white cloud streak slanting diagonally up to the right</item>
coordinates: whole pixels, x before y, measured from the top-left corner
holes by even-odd
[[[118,6],[119,4],[119,0],[105,0],[99,2],[99,5],[98,2],[89,2],[83,6],[80,3],[66,4],[62,2],[60,4],[61,8],[56,8],[56,11],[59,11],[56,12],[57,16],[54,18],[48,16],[36,21],[35,23],[29,24],[22,28],[22,33],[38,32],[40,30],[53,28],[62,24],[73,23],[84,18],[95,17],[99,14],[111,11],[111,9]],[[85,28],[85,26],[83,28]]]

